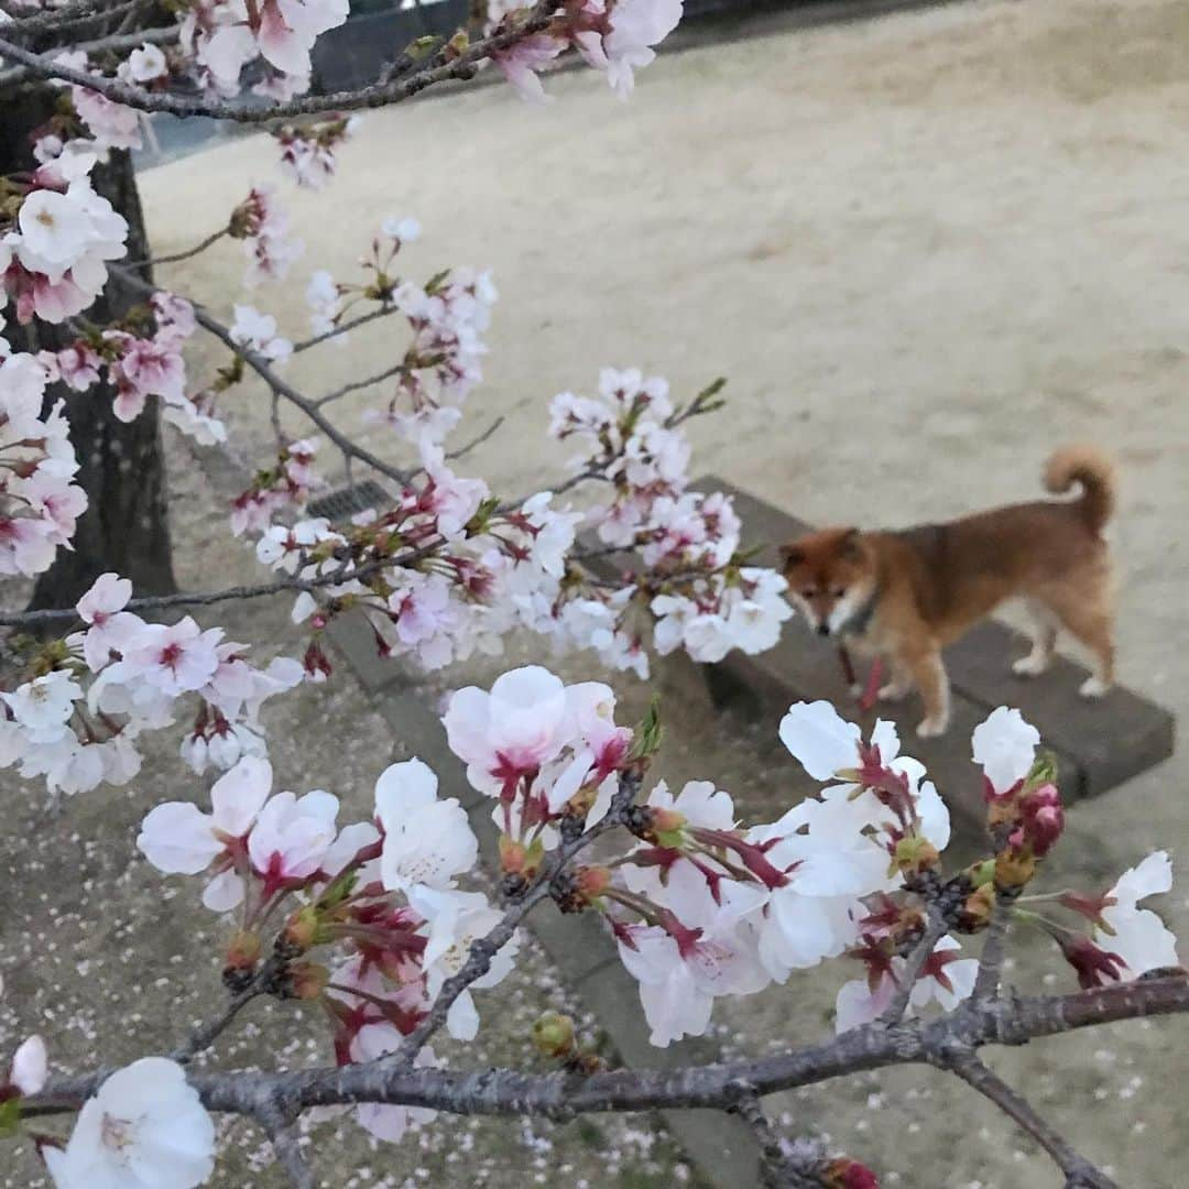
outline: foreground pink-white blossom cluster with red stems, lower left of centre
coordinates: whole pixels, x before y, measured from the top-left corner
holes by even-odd
[[[260,931],[288,906],[270,989],[323,1004],[339,1064],[397,1051],[472,942],[499,920],[483,893],[458,887],[476,864],[478,841],[458,801],[438,797],[438,778],[420,760],[380,774],[370,822],[340,828],[339,800],[321,789],[273,793],[270,765],[251,756],[215,782],[210,806],[208,813],[189,801],[158,805],[137,845],[161,872],[202,874],[208,908],[237,912],[224,974],[232,987],[260,976]],[[314,960],[315,949],[326,964]],[[502,949],[451,1005],[452,1037],[474,1038],[471,992],[501,982],[516,949],[515,940]],[[432,1050],[419,1053],[419,1064],[432,1062]],[[396,1106],[361,1106],[357,1116],[389,1140],[410,1121]]]

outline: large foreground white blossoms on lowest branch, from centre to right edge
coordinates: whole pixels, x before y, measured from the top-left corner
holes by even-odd
[[[460,690],[443,722],[467,780],[496,803],[511,889],[537,875],[567,832],[603,820],[621,775],[648,751],[615,724],[610,688],[565,686],[537,667],[504,674],[490,692]],[[624,813],[634,848],[606,866],[573,870],[555,893],[562,911],[592,908],[606,918],[640,983],[654,1044],[705,1032],[719,996],[754,994],[841,956],[860,962],[864,975],[841,987],[837,1027],[870,1023],[888,1009],[924,935],[929,889],[950,841],[949,811],[924,766],[900,755],[889,723],[876,723],[864,741],[824,702],[791,706],[780,737],[826,784],[820,795],[776,822],[742,828],[731,797],[712,782],[690,781],[674,794],[659,781]],[[974,757],[988,781],[1051,789],[1037,784],[1036,743],[1019,712],[1001,707],[975,732]],[[1023,845],[1007,839],[1002,853]],[[1150,856],[1102,898],[1062,895],[1064,907],[1095,920],[1094,938],[1058,931],[1046,918],[1042,927],[1083,986],[1138,977],[1176,964],[1175,938],[1138,907],[1170,886],[1168,856]],[[958,938],[986,925],[988,897],[1013,891],[994,860],[961,873],[952,887],[960,907],[906,988],[910,1012],[952,1011],[970,995],[977,962]],[[1103,936],[1115,946],[1105,957]]]

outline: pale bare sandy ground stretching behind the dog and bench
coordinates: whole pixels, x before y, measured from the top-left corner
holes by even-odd
[[[545,404],[604,364],[684,394],[729,377],[728,420],[692,429],[699,465],[811,521],[1030,496],[1053,445],[1095,439],[1125,468],[1122,673],[1179,709],[1164,643],[1189,496],[1189,13],[975,2],[781,32],[789,19],[667,57],[623,107],[574,73],[545,109],[482,88],[369,114],[329,201],[284,188],[306,257],[249,300],[303,335],[309,272],[357,276],[389,214],[424,225],[410,275],[491,268],[502,301],[471,424],[505,426],[472,458],[507,491],[561,461]],[[273,166],[249,137],[147,171],[158,251],[191,245]],[[162,277],[229,313],[238,250]],[[394,333],[310,352],[291,378],[317,394],[379,371]],[[227,409],[259,459],[266,402],[247,392]],[[358,430],[376,400],[347,397],[338,423]]]

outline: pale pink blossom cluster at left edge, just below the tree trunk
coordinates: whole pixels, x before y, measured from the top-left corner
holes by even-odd
[[[190,694],[199,709],[182,755],[195,770],[265,753],[260,707],[302,680],[301,665],[256,668],[221,628],[149,623],[125,610],[131,594],[126,578],[101,575],[78,600],[82,630],[36,647],[25,679],[0,692],[0,767],[18,765],[54,793],[127,784],[138,737],[170,725]]]

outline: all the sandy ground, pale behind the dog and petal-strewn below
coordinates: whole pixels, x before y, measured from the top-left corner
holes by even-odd
[[[309,271],[346,279],[388,214],[414,214],[426,227],[410,250],[415,275],[447,263],[491,266],[502,302],[471,424],[508,419],[473,457],[507,491],[560,463],[541,448],[545,403],[562,389],[593,388],[603,364],[667,375],[679,392],[729,376],[730,411],[693,428],[696,468],[811,521],[908,522],[1026,496],[1053,445],[1097,440],[1116,452],[1125,478],[1115,528],[1122,675],[1184,716],[1189,681],[1175,646],[1184,638],[1179,539],[1189,507],[1189,11],[1172,0],[999,0],[812,31],[768,24],[768,39],[665,58],[624,108],[598,80],[573,74],[551,82],[556,103],[546,111],[485,88],[369,115],[344,152],[331,203],[285,188],[307,257],[291,284],[252,300],[303,333]],[[275,176],[273,161],[270,141],[247,138],[146,172],[158,251],[212,229],[250,181]],[[222,245],[165,276],[227,309],[225,278],[239,268],[234,245]],[[358,334],[346,356],[312,352],[290,378],[319,392],[378,371],[392,360],[386,333]],[[344,402],[339,422],[357,427],[365,403]],[[231,411],[245,458],[263,458],[265,402],[245,392]],[[190,526],[183,540],[199,559],[190,574],[201,580],[209,559],[222,568],[225,555],[228,578],[250,572],[220,536],[221,512],[183,510],[209,497],[202,482],[183,459],[175,483]],[[239,638],[285,643],[283,615],[235,616]],[[566,669],[593,675],[585,661]],[[643,700],[642,690],[621,685],[629,710]],[[709,718],[697,691],[666,685],[671,722],[684,728],[666,750],[671,780],[715,776],[748,811],[779,806],[788,761],[773,744],[774,722],[740,730]],[[363,805],[384,757],[375,747],[327,754],[335,731],[370,721],[358,694],[340,688],[328,707],[297,699],[281,713],[288,787],[326,779]],[[21,995],[17,1007],[10,993],[0,1040],[64,998],[69,1063],[82,1063],[93,1049],[118,1057],[138,1051],[145,1034],[171,1038],[196,1009],[189,1005],[207,984],[193,986],[170,963],[183,952],[177,931],[209,921],[178,906],[162,930],[150,875],[128,862],[139,813],[193,785],[171,747],[152,768],[159,786],[78,803],[52,825],[32,809],[0,825],[10,870],[44,863],[56,879],[40,902],[0,888],[6,975],[36,960],[19,976],[27,982],[11,982]],[[1174,761],[1080,806],[1049,885],[1096,887],[1156,845],[1179,860],[1182,799]],[[96,831],[97,843],[77,841]],[[80,914],[80,869],[112,898],[115,911],[101,924]],[[1182,932],[1189,927],[1183,892],[1164,907]],[[1031,943],[1014,976],[1024,987],[1071,981]],[[171,980],[164,1008],[147,993],[158,977]],[[552,994],[545,979],[530,968],[516,992],[529,1018]],[[820,1036],[837,981],[836,970],[822,971],[724,1005],[724,1043],[763,1051]],[[119,1036],[133,1030],[115,995],[134,996],[145,1013],[134,1037]],[[251,1059],[273,1059],[279,1032],[262,1036]],[[514,1042],[502,1037],[492,1048],[507,1057]],[[994,1062],[1121,1184],[1174,1189],[1184,1183],[1176,1053],[1187,1040],[1184,1021],[1113,1026]],[[791,1133],[830,1135],[869,1156],[889,1184],[1058,1183],[979,1100],[929,1071],[826,1086],[779,1109]],[[514,1132],[491,1127],[474,1140],[491,1184],[523,1160],[512,1155],[524,1151]],[[237,1150],[254,1143],[241,1138]],[[342,1143],[348,1155],[327,1168],[356,1169],[356,1179],[327,1184],[472,1183],[441,1151],[404,1182],[417,1177],[416,1153],[369,1157]],[[584,1143],[571,1137],[542,1171],[579,1183],[591,1160]],[[622,1137],[616,1144],[631,1147]],[[622,1174],[596,1171],[591,1183],[648,1183],[630,1179],[637,1175],[673,1183],[674,1159],[641,1156]],[[579,1171],[562,1171],[566,1163]],[[273,1183],[244,1178],[243,1165],[227,1176],[227,1185]],[[10,1185],[26,1183],[27,1171],[8,1175]]]

